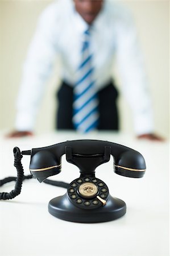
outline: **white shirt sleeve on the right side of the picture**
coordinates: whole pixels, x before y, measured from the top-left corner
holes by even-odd
[[[136,135],[152,133],[153,117],[148,81],[134,22],[129,14],[118,26],[117,63],[123,94],[130,104]]]

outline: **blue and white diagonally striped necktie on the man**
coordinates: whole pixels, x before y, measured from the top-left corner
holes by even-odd
[[[96,129],[99,119],[92,60],[90,32],[86,30],[81,49],[81,63],[77,69],[77,82],[73,88],[73,125],[82,133]]]

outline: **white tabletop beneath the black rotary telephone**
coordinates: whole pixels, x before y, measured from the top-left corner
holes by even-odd
[[[74,139],[102,139],[131,147],[146,159],[147,171],[142,179],[116,175],[113,158],[96,170],[110,194],[126,202],[125,216],[115,221],[80,224],[59,220],[48,213],[48,201],[63,195],[64,188],[24,181],[22,192],[13,200],[0,201],[1,256],[167,256],[169,255],[169,143],[139,141],[126,134],[75,133],[42,134],[31,138],[5,139],[1,134],[0,179],[16,176],[13,147],[34,147]],[[62,171],[50,177],[71,182],[79,176],[77,167],[62,158]],[[29,174],[30,156],[22,163]],[[9,192],[14,182],[3,185]]]

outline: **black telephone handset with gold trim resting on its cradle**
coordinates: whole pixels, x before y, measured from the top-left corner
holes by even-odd
[[[117,143],[96,140],[67,141],[48,147],[32,148],[30,172],[42,182],[61,172],[61,156],[66,154],[69,163],[80,173],[93,174],[97,166],[114,158],[114,172],[126,177],[143,177],[146,163],[143,156],[131,148]]]

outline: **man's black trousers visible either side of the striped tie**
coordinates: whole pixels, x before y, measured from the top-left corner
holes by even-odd
[[[117,109],[118,92],[113,82],[110,82],[98,92],[99,98],[99,125],[98,130],[118,130],[119,118]],[[73,130],[73,88],[63,82],[57,92],[59,102],[57,108],[56,129]]]

